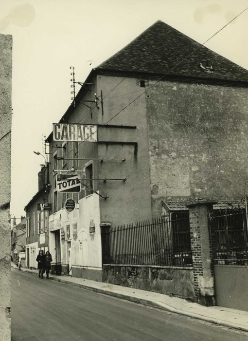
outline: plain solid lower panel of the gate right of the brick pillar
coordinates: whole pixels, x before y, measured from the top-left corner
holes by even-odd
[[[248,267],[214,265],[217,305],[248,311]]]

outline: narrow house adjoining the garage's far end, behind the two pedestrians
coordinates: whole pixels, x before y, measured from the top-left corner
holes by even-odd
[[[49,248],[49,211],[42,210],[42,205],[49,200],[49,190],[49,165],[42,165],[38,172],[38,191],[24,208],[26,211],[26,267],[28,268],[36,268],[39,250],[42,249],[45,253]]]

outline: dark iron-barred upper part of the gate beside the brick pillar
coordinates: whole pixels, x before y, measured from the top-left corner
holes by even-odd
[[[214,210],[210,219],[214,264],[248,265],[248,233],[244,209]]]

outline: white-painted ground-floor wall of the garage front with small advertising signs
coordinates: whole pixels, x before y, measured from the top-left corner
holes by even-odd
[[[62,272],[67,274],[70,246],[72,276],[87,276],[85,278],[91,276],[90,279],[99,279],[102,269],[99,196],[91,194],[82,198],[77,207],[71,213],[67,213],[65,208],[62,208],[49,217],[49,241],[53,263],[55,262],[54,231],[60,230]],[[92,226],[95,227],[94,233],[89,232],[89,227]]]

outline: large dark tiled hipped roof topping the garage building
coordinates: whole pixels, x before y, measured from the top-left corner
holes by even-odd
[[[248,82],[248,70],[160,20],[96,68],[101,70]]]

